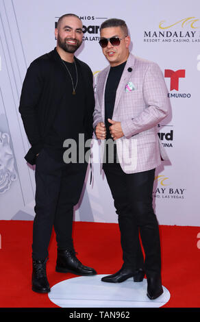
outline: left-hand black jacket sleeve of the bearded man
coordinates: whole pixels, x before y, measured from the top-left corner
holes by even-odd
[[[27,158],[29,160],[27,160],[25,156],[25,159],[31,164],[34,163],[30,159],[34,158],[36,154],[39,153],[42,149],[42,140],[40,138],[37,120],[37,106],[42,88],[43,79],[40,65],[37,61],[34,61],[27,69],[18,109],[21,113],[27,138],[30,145],[32,145],[32,148],[27,153]]]

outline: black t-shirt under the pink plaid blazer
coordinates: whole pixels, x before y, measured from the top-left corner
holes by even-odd
[[[110,67],[110,72],[105,86],[105,127],[107,139],[111,138],[109,130],[111,124],[108,123],[108,119],[112,119],[116,90],[125,68],[125,64],[126,62],[123,62],[123,64],[120,64],[118,66]]]

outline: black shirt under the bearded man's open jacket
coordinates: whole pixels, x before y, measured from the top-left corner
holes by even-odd
[[[63,143],[66,139],[73,139],[78,143],[79,134],[84,134],[84,117],[86,111],[86,95],[84,92],[84,80],[75,63],[65,62],[66,67],[66,92],[62,97],[62,103],[51,126],[49,135],[46,138],[45,147],[55,158],[60,158],[64,153]],[[73,84],[72,80],[73,79]],[[78,78],[78,79],[77,79]],[[77,82],[77,87],[75,88]],[[73,87],[75,95],[73,95]],[[78,145],[77,145],[78,148]]]

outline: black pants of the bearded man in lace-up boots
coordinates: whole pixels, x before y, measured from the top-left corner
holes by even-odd
[[[65,164],[54,160],[45,149],[37,157],[34,260],[47,258],[53,226],[58,247],[73,249],[73,207],[82,193],[87,166],[87,163]]]

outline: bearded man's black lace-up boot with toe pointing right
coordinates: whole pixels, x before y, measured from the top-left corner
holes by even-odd
[[[75,256],[75,251],[58,249],[55,271],[73,273],[75,275],[95,275],[97,272],[91,267],[84,266]]]

